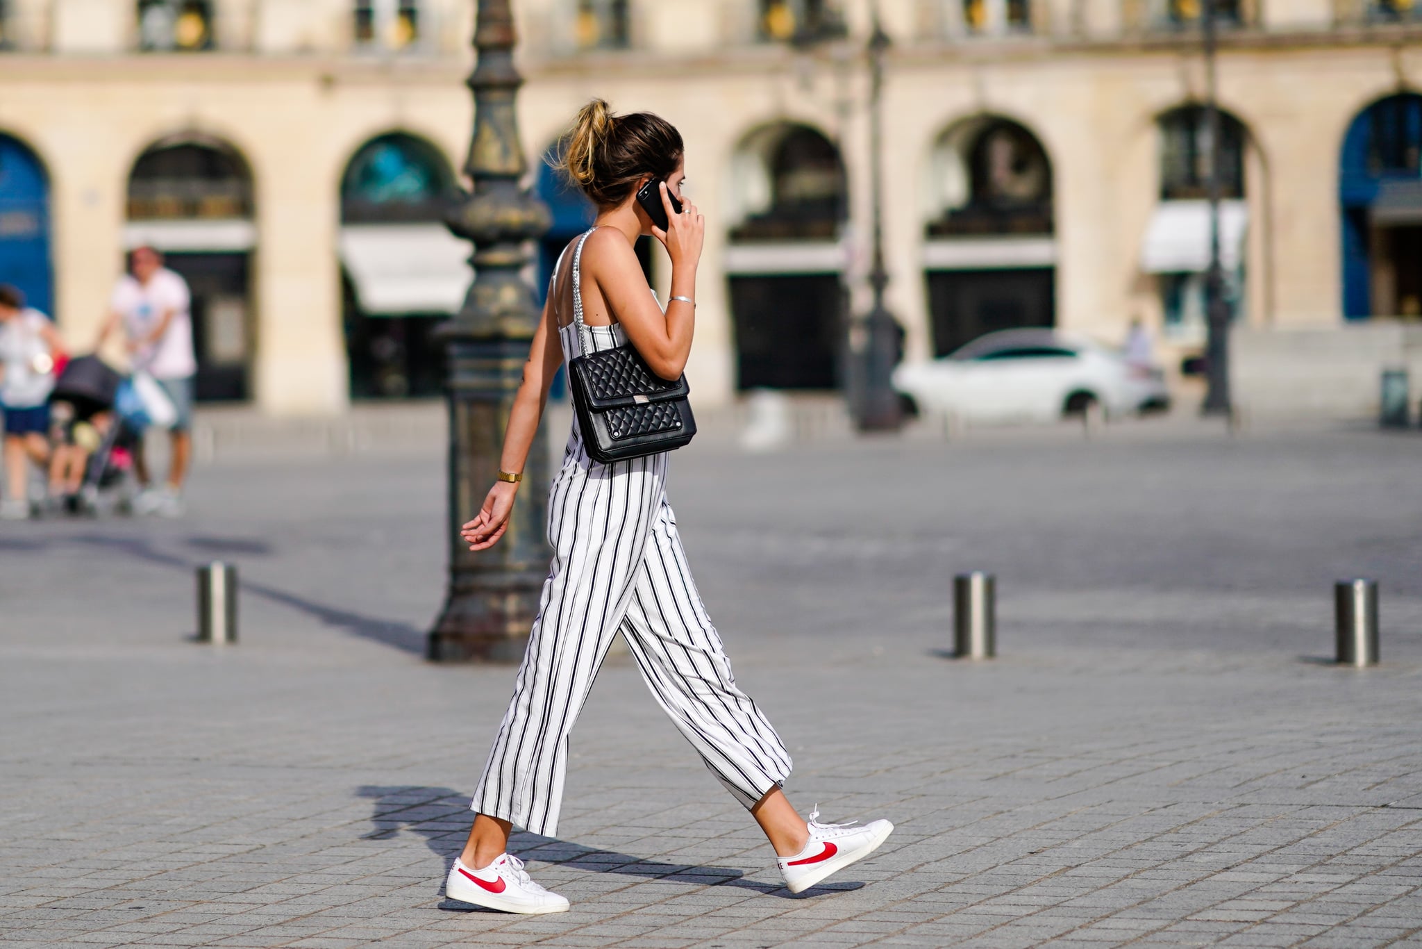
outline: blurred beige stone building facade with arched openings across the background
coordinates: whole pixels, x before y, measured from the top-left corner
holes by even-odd
[[[1418,314],[1422,18],[1409,0],[1217,6],[1239,324]],[[428,327],[468,279],[437,219],[468,144],[472,7],[0,0],[0,280],[21,275],[82,347],[122,249],[155,243],[202,297],[208,397],[321,414],[432,391]],[[887,295],[907,359],[1018,324],[1119,340],[1132,319],[1167,364],[1197,350],[1197,0],[879,7]],[[865,304],[867,0],[515,10],[550,240],[582,213],[539,171],[573,111],[602,95],[665,115],[710,221],[698,398],[832,387]]]

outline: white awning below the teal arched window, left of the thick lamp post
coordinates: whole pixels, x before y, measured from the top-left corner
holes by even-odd
[[[474,279],[472,248],[438,223],[350,225],[340,249],[367,316],[454,313]]]

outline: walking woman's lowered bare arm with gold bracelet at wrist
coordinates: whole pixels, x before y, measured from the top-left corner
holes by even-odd
[[[543,317],[533,333],[528,361],[523,363],[523,381],[513,396],[513,408],[509,411],[509,427],[503,433],[503,452],[499,455],[502,471],[522,472],[528,464],[539,421],[543,418],[543,407],[547,404],[547,387],[553,383],[553,376],[557,374],[562,361],[563,344],[557,339],[553,295],[550,293],[549,302],[543,306]],[[509,529],[509,514],[513,511],[513,498],[518,492],[516,482],[493,482],[479,514],[459,529],[471,551],[485,551],[503,536],[503,532]]]

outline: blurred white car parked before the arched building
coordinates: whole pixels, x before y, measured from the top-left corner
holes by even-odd
[[[899,366],[893,386],[910,413],[963,421],[1125,415],[1170,404],[1159,369],[1132,366],[1116,350],[1048,329],[980,336],[931,363]]]

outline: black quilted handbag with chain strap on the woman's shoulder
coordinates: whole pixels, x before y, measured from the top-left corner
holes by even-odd
[[[593,351],[583,323],[582,253],[579,240],[573,252],[573,320],[583,351],[567,367],[589,457],[610,464],[680,448],[697,434],[685,374],[674,383],[658,377],[631,343]]]

